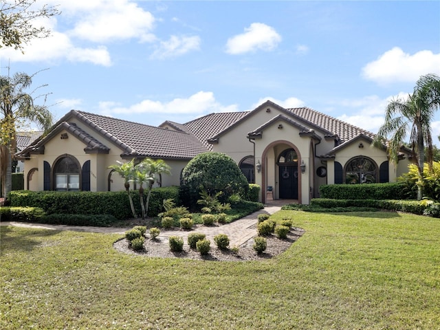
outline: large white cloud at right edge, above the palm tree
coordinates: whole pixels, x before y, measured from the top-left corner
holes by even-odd
[[[440,53],[422,50],[413,55],[399,47],[388,50],[362,68],[362,76],[376,83],[415,82],[424,74],[440,73]]]

